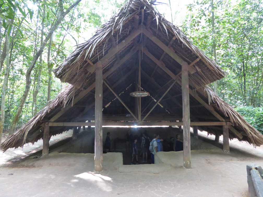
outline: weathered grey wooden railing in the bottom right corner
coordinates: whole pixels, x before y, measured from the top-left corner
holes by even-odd
[[[263,170],[260,166],[247,165],[247,184],[251,197],[263,197]]]

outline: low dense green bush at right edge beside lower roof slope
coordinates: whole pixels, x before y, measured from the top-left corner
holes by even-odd
[[[263,134],[263,108],[262,107],[238,107],[237,112],[244,117],[255,129]]]

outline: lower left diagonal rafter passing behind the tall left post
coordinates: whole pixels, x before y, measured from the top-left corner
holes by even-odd
[[[110,74],[112,74],[117,68],[119,68],[126,60],[128,60],[134,53],[136,53],[136,51],[138,51],[137,48],[131,49],[130,52],[125,55],[121,60],[115,62],[115,64],[113,65],[113,67],[108,70],[104,75],[103,75],[103,79],[105,79],[106,77],[108,77]],[[69,108],[71,108],[71,106],[75,105],[75,103],[77,103],[80,99],[82,99],[85,95],[87,95],[92,89],[95,88],[95,82],[90,85],[87,89],[82,90],[78,96],[76,96],[74,98],[74,100],[72,101],[72,105],[67,105],[66,107],[63,107],[55,116],[53,116],[49,121],[50,122],[54,122],[55,120],[57,120],[60,116],[62,116],[66,111],[69,110]]]

